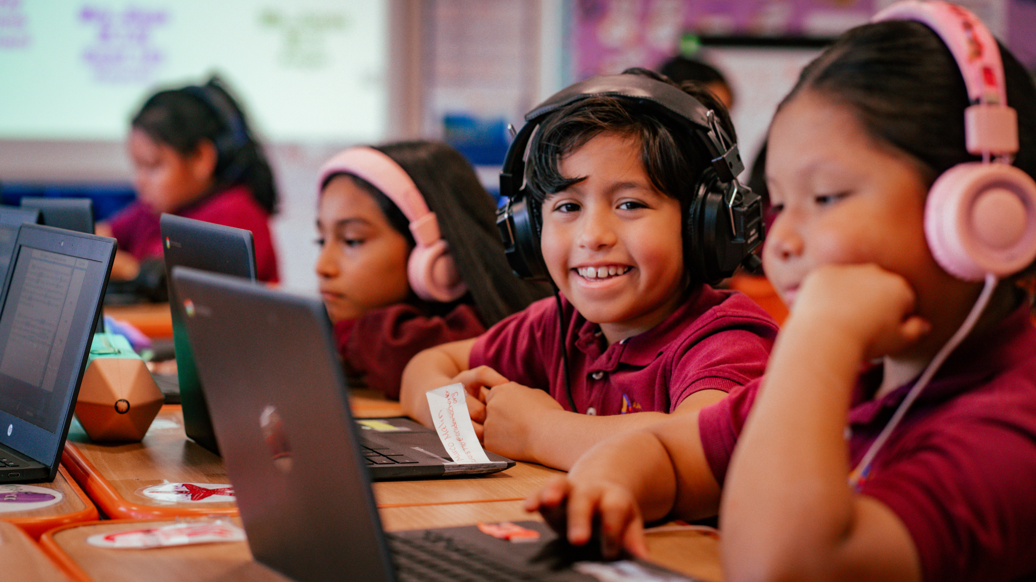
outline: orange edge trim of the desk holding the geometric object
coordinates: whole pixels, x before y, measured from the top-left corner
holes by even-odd
[[[184,517],[237,516],[237,507],[163,507],[143,505],[122,498],[92,463],[71,442],[65,442],[61,462],[91,499],[113,520],[171,520]],[[110,521],[108,522],[110,523]]]

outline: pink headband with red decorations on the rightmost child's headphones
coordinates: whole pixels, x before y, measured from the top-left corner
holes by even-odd
[[[1007,105],[1000,47],[982,21],[943,0],[904,0],[874,14],[871,22],[919,22],[939,35],[963,77],[971,107],[965,110],[968,151],[1005,155],[1018,150],[1017,114]]]

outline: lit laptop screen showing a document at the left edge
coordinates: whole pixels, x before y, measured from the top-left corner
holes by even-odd
[[[115,239],[22,225],[0,292],[0,484],[53,481]]]

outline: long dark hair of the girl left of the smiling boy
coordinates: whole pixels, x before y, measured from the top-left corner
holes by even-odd
[[[399,164],[418,186],[428,209],[435,212],[439,231],[450,245],[450,254],[470,294],[469,298],[461,300],[474,303],[487,327],[550,294],[549,288],[522,281],[511,271],[496,230],[493,199],[460,152],[432,141],[373,147]],[[340,175],[328,176],[321,188]],[[412,246],[413,235],[403,211],[367,180],[349,177],[374,198],[388,224]]]

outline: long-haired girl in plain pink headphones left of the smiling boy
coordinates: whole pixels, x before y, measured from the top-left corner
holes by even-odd
[[[346,149],[319,188],[316,271],[353,381],[398,398],[415,353],[473,338],[547,293],[511,272],[492,198],[445,144]]]

